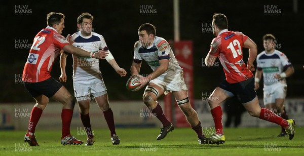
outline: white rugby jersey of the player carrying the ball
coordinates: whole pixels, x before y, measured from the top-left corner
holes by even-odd
[[[162,37],[155,36],[154,42],[150,47],[143,48],[140,41],[137,41],[134,45],[134,57],[135,63],[140,63],[145,60],[151,69],[154,71],[160,66],[159,60],[168,59],[169,67],[160,77],[168,77],[174,75],[178,69],[182,69],[169,45],[169,43]]]

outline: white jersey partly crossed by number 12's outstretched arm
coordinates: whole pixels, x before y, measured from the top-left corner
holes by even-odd
[[[90,36],[83,36],[81,32],[76,32],[71,36],[71,41],[75,41],[73,46],[86,51],[96,53],[100,49],[107,50],[106,43],[102,35],[92,32]],[[73,55],[73,80],[92,80],[100,77],[99,60]]]

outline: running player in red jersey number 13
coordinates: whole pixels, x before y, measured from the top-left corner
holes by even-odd
[[[291,140],[294,136],[294,120],[284,120],[269,109],[261,108],[254,90],[253,62],[256,58],[256,44],[241,32],[228,31],[227,18],[223,14],[214,14],[212,20],[213,34],[211,48],[205,64],[212,66],[218,57],[225,72],[226,79],[215,88],[208,103],[215,124],[216,134],[206,138],[207,144],[222,144],[225,136],[222,126],[222,109],[220,104],[226,99],[237,96],[251,116],[276,123],[284,127]],[[243,47],[249,49],[246,64],[243,61]]]

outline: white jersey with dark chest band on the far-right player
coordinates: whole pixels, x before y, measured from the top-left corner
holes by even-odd
[[[272,54],[266,54],[262,51],[257,55],[257,70],[262,70],[264,85],[273,85],[276,83],[286,84],[285,79],[278,80],[274,78],[276,73],[284,72],[289,66],[292,66],[286,55],[278,50]]]

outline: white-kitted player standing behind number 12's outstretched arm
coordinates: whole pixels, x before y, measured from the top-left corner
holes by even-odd
[[[74,33],[69,40],[75,47],[81,47],[85,50],[98,52],[99,49],[108,50],[102,35],[92,32],[93,16],[89,13],[81,14],[77,19],[77,26],[79,32]],[[120,68],[116,63],[114,57],[107,51],[108,55],[105,59],[121,75],[126,75],[126,70]],[[110,130],[110,137],[113,145],[120,144],[120,139],[115,131],[115,123],[113,111],[110,108],[106,87],[102,80],[101,72],[99,70],[99,61],[90,57],[73,56],[73,85],[77,102],[79,104],[80,118],[87,132],[88,138],[86,146],[93,145],[94,134],[92,133],[90,123],[90,96],[94,96],[96,103],[102,110],[104,119]],[[60,81],[66,82],[66,53],[61,53],[60,68],[61,76]]]

